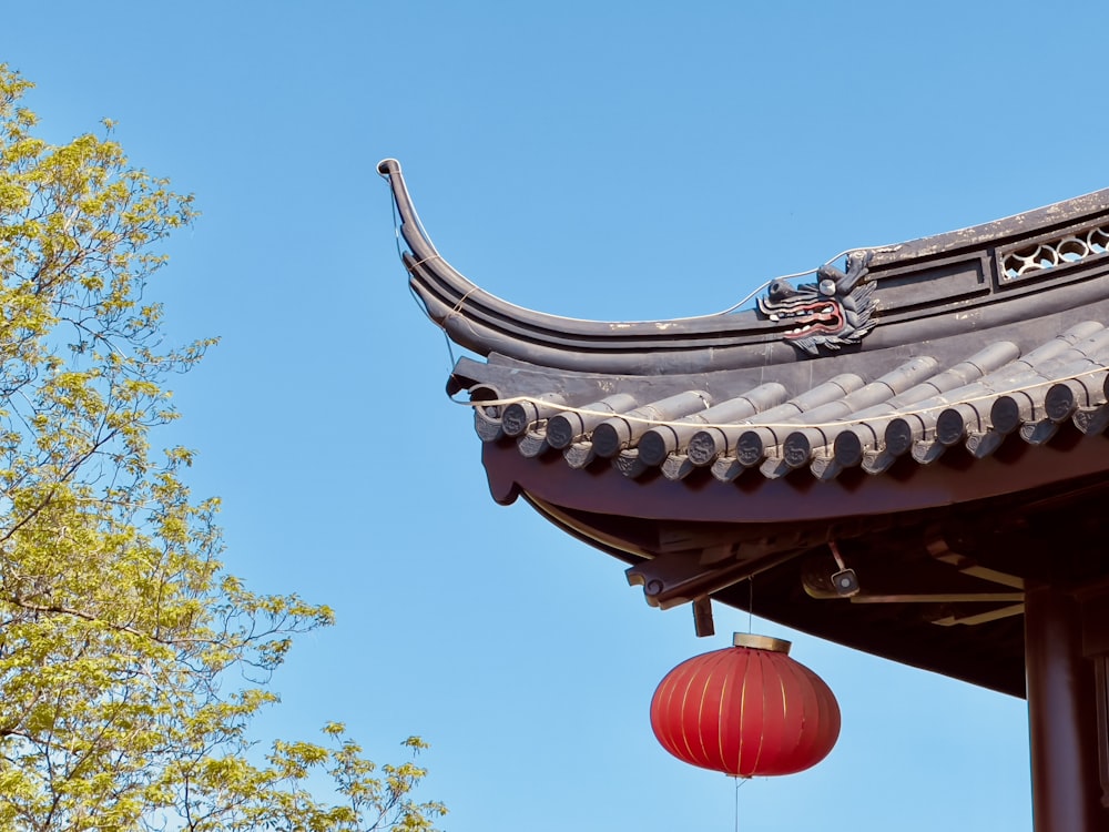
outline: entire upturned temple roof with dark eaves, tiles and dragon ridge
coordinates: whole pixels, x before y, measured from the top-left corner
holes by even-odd
[[[403,258],[484,361],[492,496],[621,558],[659,607],[710,599],[1014,694],[1024,590],[1109,577],[1109,191],[856,250],[754,310],[588,322],[439,255],[396,162]],[[849,572],[837,586],[836,576]],[[753,599],[753,600],[752,600]]]

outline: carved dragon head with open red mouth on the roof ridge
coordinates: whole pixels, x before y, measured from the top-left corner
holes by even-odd
[[[774,281],[759,297],[759,311],[771,321],[791,324],[785,339],[808,355],[820,355],[821,347],[835,351],[855,344],[874,327],[874,284],[862,282],[869,262],[869,252],[852,252],[846,271],[821,266],[816,283],[795,288],[784,280]]]

